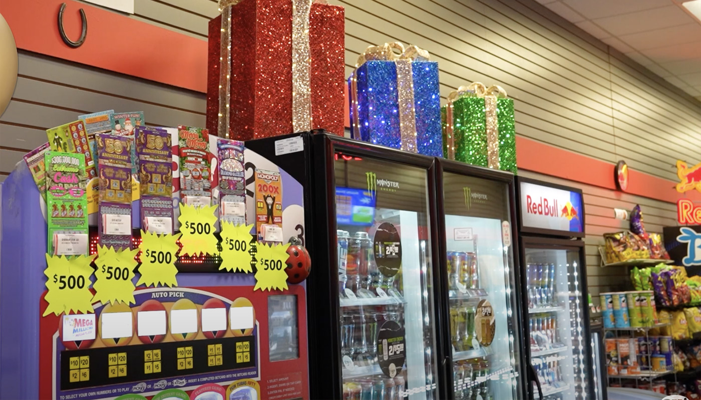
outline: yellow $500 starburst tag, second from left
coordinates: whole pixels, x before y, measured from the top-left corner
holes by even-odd
[[[93,301],[100,301],[102,304],[135,303],[133,279],[137,254],[139,249],[116,251],[114,247],[97,247],[97,280],[93,284]]]

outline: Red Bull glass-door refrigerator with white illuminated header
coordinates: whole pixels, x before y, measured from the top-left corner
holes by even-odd
[[[516,181],[529,397],[594,399],[582,191]]]

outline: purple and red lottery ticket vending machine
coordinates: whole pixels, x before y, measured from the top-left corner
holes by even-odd
[[[233,240],[222,242],[220,235],[220,222],[227,216],[245,216],[252,226],[250,237],[237,246],[283,245],[294,237],[296,248],[301,250],[305,237],[304,170],[287,173],[249,149],[244,152],[245,161],[229,158],[226,163],[222,160],[220,167],[216,141],[212,135],[210,149],[213,145],[214,150],[205,158],[212,169],[208,173],[212,177],[210,201],[217,206],[215,215],[222,214],[211,228],[217,251],[178,256],[174,263],[177,284],[172,286],[139,283],[143,276],[139,268],[144,265],[140,262],[147,256],[136,250],[145,240],[138,201],[132,202],[132,257],[110,265],[93,261],[86,275],[70,272],[70,268],[67,275],[45,273],[46,205],[27,165],[18,164],[4,182],[2,198],[1,398],[309,398],[306,282],[302,282],[306,275],[290,271],[286,289],[270,289],[256,276],[259,268],[268,266],[262,265],[266,260],[261,253],[256,258],[253,252],[250,265],[236,264],[236,268],[224,268],[219,254],[224,246],[234,247]],[[174,138],[174,155],[179,154],[177,145]],[[174,179],[184,172],[182,165],[173,156]],[[226,184],[219,185],[227,176]],[[224,196],[229,193],[226,185],[236,183],[233,177],[240,177],[243,202]],[[175,187],[172,200],[175,209],[182,209]],[[198,229],[196,222],[188,222],[182,215],[177,221],[177,214],[176,221],[169,221],[180,232],[191,226]],[[96,230],[91,224],[90,254],[98,251]],[[154,257],[158,256],[165,257]],[[284,264],[270,265],[285,269]],[[96,279],[98,270],[102,275]],[[66,288],[89,287],[93,296],[96,288],[100,290],[96,282],[105,277],[130,280],[136,286],[132,298],[93,300],[90,310],[80,312],[47,312],[51,300],[47,282]]]

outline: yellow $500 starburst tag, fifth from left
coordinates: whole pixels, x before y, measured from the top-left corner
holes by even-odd
[[[257,244],[255,235],[252,235],[251,225],[234,225],[222,221],[222,265],[220,270],[232,273],[252,273],[253,256],[256,253]]]

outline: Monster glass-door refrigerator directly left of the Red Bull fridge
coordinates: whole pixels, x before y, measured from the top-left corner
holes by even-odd
[[[450,398],[524,399],[514,175],[449,160],[438,165]]]

